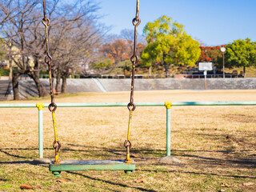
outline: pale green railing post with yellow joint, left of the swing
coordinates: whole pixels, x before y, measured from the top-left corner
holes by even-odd
[[[43,103],[37,103],[38,107],[38,150],[39,158],[43,158],[43,133],[42,133],[42,110]]]

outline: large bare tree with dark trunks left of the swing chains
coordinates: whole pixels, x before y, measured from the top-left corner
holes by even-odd
[[[39,81],[44,36],[39,28],[38,0],[3,0],[0,2],[1,30],[11,51],[8,57],[18,66],[14,73],[14,99],[18,99],[18,77],[27,74],[34,79],[39,96],[47,94]]]

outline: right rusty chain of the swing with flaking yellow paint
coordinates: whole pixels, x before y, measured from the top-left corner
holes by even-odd
[[[129,114],[129,122],[128,122],[128,133],[127,133],[127,140],[124,143],[124,146],[126,147],[126,163],[130,163],[130,148],[131,148],[131,142],[130,142],[130,126],[131,126],[131,119],[133,116],[133,111],[135,110],[136,106],[134,104],[134,74],[135,74],[135,66],[138,62],[138,55],[137,55],[137,28],[138,25],[141,23],[141,19],[138,18],[138,10],[139,10],[139,0],[137,0],[137,8],[136,8],[136,15],[133,19],[133,25],[134,25],[134,54],[130,57],[130,62],[132,62],[132,76],[131,76],[131,86],[130,86],[130,102],[128,104],[128,110],[130,110]]]

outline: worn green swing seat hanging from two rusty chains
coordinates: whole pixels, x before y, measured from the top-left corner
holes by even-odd
[[[79,170],[124,170],[130,174],[135,170],[135,164],[126,163],[124,160],[66,160],[59,164],[50,163],[49,170],[58,176],[62,170],[79,171]]]

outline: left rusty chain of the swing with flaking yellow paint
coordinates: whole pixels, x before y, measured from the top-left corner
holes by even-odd
[[[52,57],[49,54],[49,30],[48,26],[50,26],[50,19],[46,17],[46,0],[43,0],[43,18],[42,18],[42,24],[46,27],[46,57],[45,62],[48,65],[49,70],[49,80],[50,80],[50,98],[51,102],[48,106],[48,109],[52,113],[52,119],[54,124],[54,143],[53,147],[55,150],[55,161],[54,164],[58,164],[60,162],[59,159],[59,149],[61,148],[62,144],[58,141],[58,134],[57,134],[57,128],[56,128],[56,119],[55,119],[55,110],[57,109],[56,103],[54,103],[54,86],[53,86],[53,78],[52,78]]]

